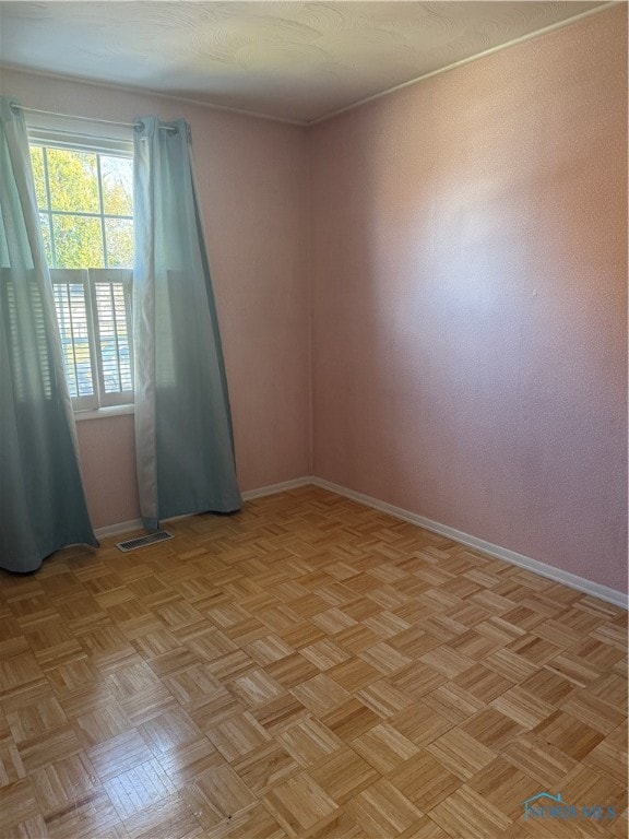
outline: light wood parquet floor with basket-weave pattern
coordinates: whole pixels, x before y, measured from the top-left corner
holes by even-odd
[[[170,530],[1,575],[2,839],[627,836],[622,610],[314,487]]]

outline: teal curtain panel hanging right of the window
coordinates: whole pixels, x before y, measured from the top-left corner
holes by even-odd
[[[134,149],[135,448],[144,527],[241,497],[187,122],[142,118]]]

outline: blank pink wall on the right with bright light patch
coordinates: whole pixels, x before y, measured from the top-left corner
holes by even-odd
[[[626,8],[309,135],[313,471],[626,590]]]

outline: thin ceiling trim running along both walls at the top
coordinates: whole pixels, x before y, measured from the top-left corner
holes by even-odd
[[[342,114],[346,114],[351,110],[354,110],[355,108],[359,108],[363,105],[367,105],[370,102],[380,99],[383,96],[389,96],[392,93],[402,91],[405,87],[411,87],[414,84],[418,84],[419,82],[424,82],[424,81],[427,81],[428,79],[432,79],[434,76],[440,75],[441,73],[447,73],[450,70],[455,70],[460,67],[464,67],[465,64],[470,64],[473,61],[477,61],[482,58],[492,56],[496,52],[500,52],[505,49],[510,49],[511,47],[515,47],[520,44],[524,44],[527,40],[533,40],[534,38],[537,38],[542,35],[549,34],[557,29],[562,29],[566,26],[571,26],[572,24],[581,23],[588,17],[591,17],[595,14],[601,14],[602,12],[605,12],[612,8],[624,5],[626,4],[626,2],[627,0],[609,0],[609,2],[606,2],[603,5],[597,7],[596,9],[589,9],[585,12],[581,12],[580,14],[575,14],[572,17],[567,17],[562,21],[558,21],[557,23],[553,23],[548,26],[545,26],[542,29],[536,29],[535,32],[531,32],[526,35],[522,35],[519,38],[513,38],[512,40],[508,40],[505,44],[499,44],[496,47],[490,47],[489,49],[486,49],[483,52],[476,52],[475,55],[470,56],[468,58],[461,59],[460,61],[454,61],[451,64],[441,67],[438,70],[432,70],[429,73],[424,73],[423,75],[419,75],[416,79],[411,79],[407,82],[403,82],[402,84],[397,84],[393,87],[388,87],[385,91],[381,91],[380,93],[376,93],[371,96],[367,96],[366,98],[359,99],[358,102],[355,102],[352,105],[347,105],[344,108],[333,110],[330,114],[325,114],[322,117],[318,117],[317,119],[312,119],[309,121],[287,119],[286,117],[276,117],[270,114],[261,114],[254,110],[247,110],[245,108],[230,107],[228,105],[217,105],[211,102],[203,102],[201,99],[191,98],[189,96],[175,96],[169,93],[154,91],[151,87],[139,87],[137,85],[128,85],[128,84],[111,84],[110,82],[97,82],[97,81],[94,81],[93,79],[84,79],[83,76],[80,76],[80,75],[66,75],[62,73],[43,72],[40,70],[33,70],[20,64],[0,62],[0,70],[2,69],[13,70],[21,73],[28,73],[31,75],[43,76],[45,79],[57,79],[63,82],[78,82],[80,84],[88,84],[94,87],[105,87],[107,90],[112,90],[112,91],[144,94],[144,95],[155,96],[161,99],[166,99],[168,102],[181,102],[188,105],[193,105],[194,107],[207,108],[210,110],[218,110],[227,114],[236,114],[242,117],[251,117],[253,119],[263,119],[270,122],[280,122],[283,125],[295,126],[298,128],[309,128],[311,126],[317,126],[317,125],[320,125],[321,122],[325,122],[329,119],[333,119],[334,117],[341,116]]]

